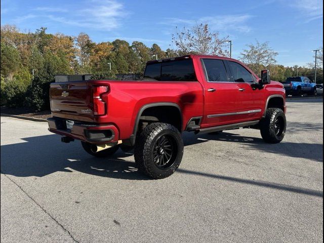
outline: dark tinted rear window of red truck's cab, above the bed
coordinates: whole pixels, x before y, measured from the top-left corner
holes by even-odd
[[[148,63],[143,78],[158,81],[196,81],[192,59]]]

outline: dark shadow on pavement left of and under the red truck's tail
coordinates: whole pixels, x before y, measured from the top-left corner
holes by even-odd
[[[132,153],[119,149],[109,158],[96,158],[85,152],[79,141],[64,144],[59,138],[57,135],[45,135],[24,138],[21,143],[2,145],[1,173],[18,177],[43,177],[59,171],[75,170],[103,177],[148,179],[137,173],[134,159],[130,157]]]

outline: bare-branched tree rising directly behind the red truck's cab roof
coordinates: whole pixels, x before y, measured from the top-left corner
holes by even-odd
[[[178,55],[229,56],[228,50],[224,50],[228,36],[220,38],[218,32],[211,32],[208,24],[196,24],[190,29],[184,27],[181,32],[172,35],[172,43]]]

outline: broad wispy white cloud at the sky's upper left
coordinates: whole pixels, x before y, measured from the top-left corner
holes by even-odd
[[[126,16],[124,6],[115,0],[92,0],[86,1],[84,4],[79,2],[74,5],[68,3],[60,8],[38,7],[32,9],[30,14],[18,17],[15,20],[22,22],[30,18],[47,18],[67,25],[109,31],[119,27],[121,19]]]

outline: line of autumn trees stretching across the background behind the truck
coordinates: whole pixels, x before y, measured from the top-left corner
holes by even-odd
[[[95,43],[86,33],[69,36],[50,34],[45,27],[35,32],[21,32],[14,25],[1,26],[1,105],[49,109],[49,83],[55,74],[86,74],[115,78],[115,74],[141,75],[147,61],[187,54],[229,56],[228,36],[220,37],[207,24],[183,28],[172,35],[174,48],[161,50],[157,44],[147,47],[122,39]],[[178,29],[179,30],[179,29]],[[322,50],[322,48],[321,48]],[[314,79],[313,64],[285,67],[276,64],[268,43],[250,44],[239,59],[257,74],[268,68],[273,80],[304,75]],[[317,83],[322,83],[322,51],[318,55]]]

